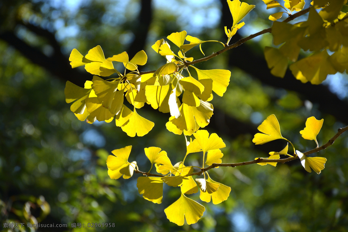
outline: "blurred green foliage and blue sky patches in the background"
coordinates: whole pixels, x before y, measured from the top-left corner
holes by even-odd
[[[86,54],[89,48],[101,45],[106,56],[128,49],[134,39],[139,1],[73,2],[2,2],[1,17],[6,23],[2,21],[1,30],[13,30],[31,47],[49,56],[53,48],[47,40],[18,21],[47,29],[55,34],[67,63],[73,48]],[[263,8],[256,5],[255,12],[246,19],[251,24],[249,30],[263,29],[269,24]],[[223,35],[223,27],[219,26],[220,2],[194,1],[190,6],[188,1],[181,0],[168,4],[153,1],[152,8],[145,45],[149,62],[143,71],[156,69],[163,62],[151,45],[172,32],[187,30],[202,40],[215,40]],[[190,22],[183,17],[199,20]],[[205,24],[209,18],[211,22]],[[248,35],[248,30],[242,33]],[[271,38],[265,35],[245,46],[260,53],[263,46],[270,44]],[[206,54],[221,49],[219,44],[202,47]],[[201,57],[198,49],[192,49],[191,54]],[[215,109],[255,128],[268,115],[275,114],[283,136],[298,150],[315,147],[314,141],[306,141],[299,134],[308,117],[324,118],[317,136],[319,144],[326,143],[343,126],[301,94],[263,85],[242,70],[228,67],[225,54],[197,65],[200,66],[232,72],[224,96],[214,95]],[[248,165],[213,170],[214,180],[231,187],[230,197],[216,206],[199,201],[206,207],[203,218],[197,224],[178,227],[168,221],[163,210],[178,198],[179,189],[165,187],[163,203],[153,204],[137,192],[137,174],[129,180],[113,180],[106,168],[107,155],[127,145],[133,145],[130,159],[136,160],[141,170],[150,168],[144,147],[161,147],[173,162],[182,160],[185,140],[166,130],[169,115],[141,109],[145,118],[156,122],[155,127],[144,137],[130,138],[114,122],[88,125],[78,121],[64,101],[64,85],[59,77],[0,40],[0,226],[37,221],[68,225],[37,231],[346,231],[347,135],[320,152],[320,156],[327,158],[320,175],[307,173],[299,160],[277,167]],[[209,128],[209,132],[219,134],[218,128]],[[228,133],[220,136],[226,143],[222,149],[224,163],[267,157],[268,152],[280,151],[285,146],[284,141],[270,142],[271,150],[263,152],[258,147],[262,145],[251,142],[253,134],[247,130],[234,137]],[[188,163],[197,166],[197,157],[190,154]],[[194,200],[198,198],[198,194],[193,196]],[[71,223],[84,227],[70,228]],[[88,223],[115,223],[115,227],[89,228]],[[35,231],[29,227],[3,230]]]

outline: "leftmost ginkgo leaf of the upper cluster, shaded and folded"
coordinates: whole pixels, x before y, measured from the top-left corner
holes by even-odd
[[[86,109],[85,99],[88,98],[91,89],[81,88],[70,81],[66,81],[64,94],[66,103],[74,102],[70,110],[76,114],[83,114]]]

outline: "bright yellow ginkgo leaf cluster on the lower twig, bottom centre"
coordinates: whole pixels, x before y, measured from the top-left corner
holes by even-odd
[[[212,163],[221,163],[223,154],[221,148],[226,145],[222,139],[215,133],[209,136],[208,131],[198,130],[193,134],[195,138],[187,143],[187,152],[185,157],[190,153],[203,152],[203,162],[211,165]],[[135,170],[138,170],[135,161],[128,162],[129,154],[132,146],[126,146],[121,149],[112,151],[113,155],[109,155],[106,161],[108,166],[108,174],[112,179],[118,179],[123,175],[123,178],[130,178]],[[184,224],[184,219],[188,224],[196,223],[205,211],[205,207],[200,203],[187,197],[189,194],[198,193],[200,190],[200,199],[205,202],[213,201],[214,204],[219,204],[227,200],[231,188],[221,183],[213,181],[206,173],[207,178],[193,179],[193,167],[185,166],[184,161],[172,164],[167,153],[159,147],[148,147],[144,149],[146,157],[151,162],[156,171],[163,176],[141,176],[137,179],[137,188],[139,194],[143,198],[153,203],[162,203],[163,201],[163,184],[172,187],[180,187],[181,196],[172,205],[167,207],[164,212],[169,221],[178,225]],[[207,153],[207,159],[204,159],[204,154]],[[184,158],[185,159],[185,158]],[[204,165],[203,165],[204,167]],[[156,174],[157,175],[157,174]]]

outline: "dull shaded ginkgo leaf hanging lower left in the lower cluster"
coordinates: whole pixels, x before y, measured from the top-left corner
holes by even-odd
[[[139,194],[143,194],[143,198],[153,203],[162,203],[163,198],[163,181],[161,177],[141,176],[138,177],[136,186]]]

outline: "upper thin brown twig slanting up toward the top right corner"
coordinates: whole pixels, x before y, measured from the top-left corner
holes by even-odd
[[[301,10],[300,12],[296,13],[296,14],[293,14],[293,15],[290,15],[289,17],[287,17],[283,22],[290,22],[292,21],[293,19],[297,18],[297,17],[300,17],[306,13],[309,12],[309,9],[310,7],[308,7],[307,9],[304,9],[304,10]],[[223,49],[221,49],[220,51],[217,51],[216,53],[213,53],[209,56],[206,56],[206,57],[203,57],[203,58],[200,58],[200,59],[196,59],[195,61],[191,61],[191,62],[185,62],[185,64],[182,64],[182,65],[179,65],[179,69],[181,69],[182,67],[184,66],[189,66],[189,65],[192,65],[192,64],[197,64],[197,63],[200,63],[200,62],[203,62],[203,61],[207,61],[208,59],[211,59],[215,56],[218,56],[220,55],[221,53],[224,53],[225,51],[227,50],[230,50],[232,48],[236,48],[238,47],[239,45],[242,45],[243,43],[245,43],[246,41],[248,40],[251,40],[255,37],[258,37],[259,35],[262,35],[262,34],[265,34],[265,33],[271,33],[272,32],[272,27],[269,27],[267,29],[264,29],[262,31],[259,31],[255,34],[252,34],[252,35],[249,35],[248,37],[245,37],[243,39],[240,39],[238,40],[237,42],[227,46],[227,47],[224,47]],[[143,74],[148,74],[148,73],[154,73],[156,72],[156,70],[152,70],[152,71],[146,71],[146,72],[140,72],[139,75],[143,75]]]

